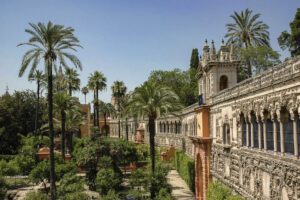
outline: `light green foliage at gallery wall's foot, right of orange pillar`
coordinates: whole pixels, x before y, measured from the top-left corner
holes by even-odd
[[[207,200],[243,200],[241,196],[233,195],[232,191],[216,181],[212,182],[207,189]]]

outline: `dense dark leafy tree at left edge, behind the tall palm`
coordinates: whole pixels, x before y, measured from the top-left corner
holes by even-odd
[[[15,154],[22,135],[35,131],[36,95],[31,90],[16,91],[0,97],[0,154]],[[44,99],[41,99],[39,119],[42,118]]]

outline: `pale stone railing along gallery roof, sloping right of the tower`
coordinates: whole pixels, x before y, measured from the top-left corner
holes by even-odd
[[[292,58],[257,76],[246,79],[232,88],[223,90],[210,98],[211,104],[248,95],[257,90],[300,77],[300,56]]]

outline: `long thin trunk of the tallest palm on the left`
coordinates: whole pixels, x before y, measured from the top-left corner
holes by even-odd
[[[48,117],[49,117],[49,138],[50,138],[50,195],[51,200],[56,199],[55,188],[55,163],[54,163],[54,127],[53,127],[53,80],[52,60],[47,60],[48,68]]]

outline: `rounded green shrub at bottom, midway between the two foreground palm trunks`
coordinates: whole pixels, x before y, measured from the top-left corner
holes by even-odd
[[[96,177],[96,188],[102,195],[106,195],[109,190],[117,189],[122,183],[119,174],[113,169],[100,169]]]

